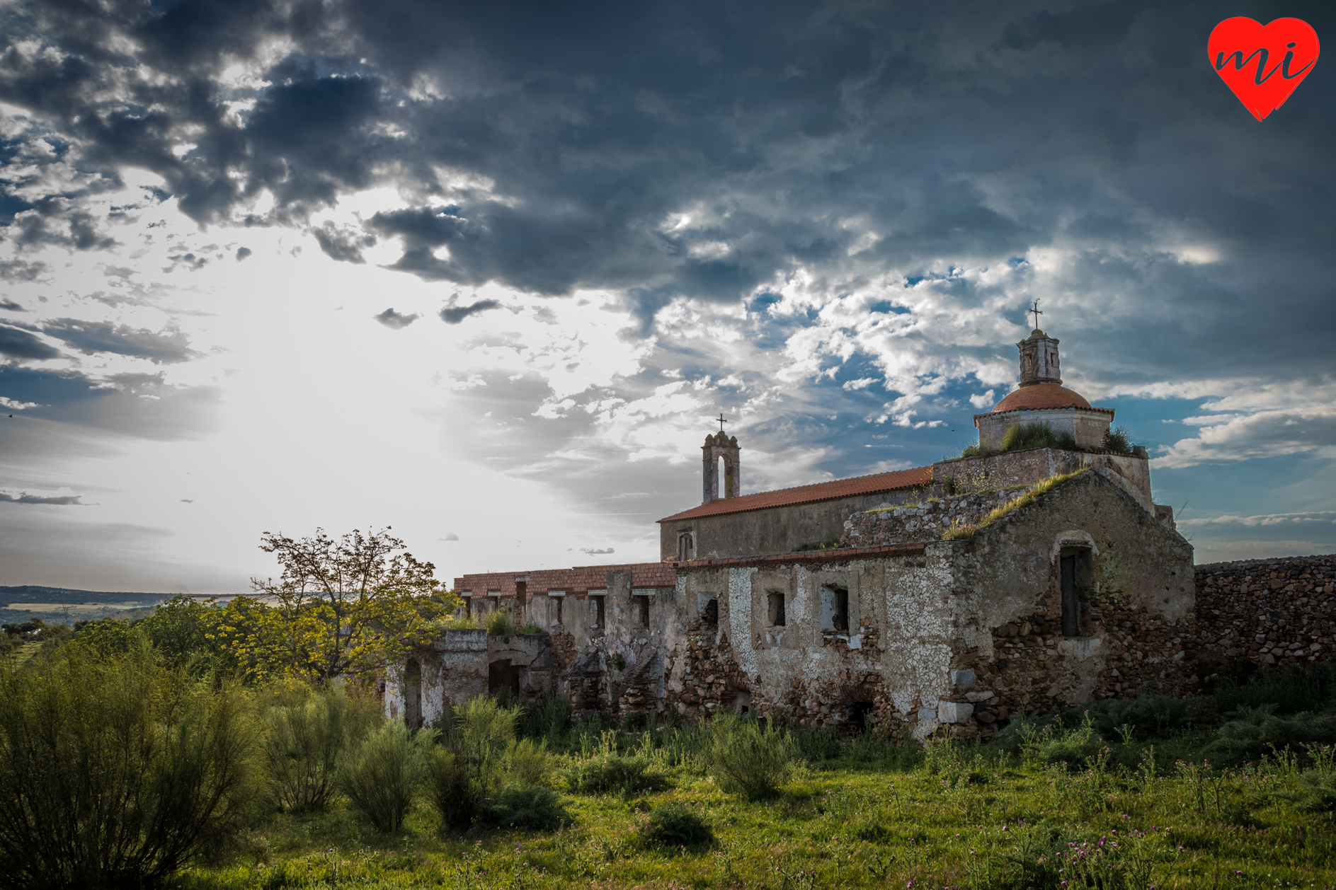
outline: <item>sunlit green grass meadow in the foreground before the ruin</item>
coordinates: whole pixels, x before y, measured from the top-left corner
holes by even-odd
[[[564,793],[574,826],[557,833],[442,837],[430,810],[420,805],[401,831],[383,835],[338,806],[314,817],[270,815],[231,862],[195,869],[176,883],[198,890],[1002,890],[1061,887],[1055,867],[1081,845],[1088,853],[1079,867],[1118,875],[1104,886],[1336,882],[1332,815],[1301,809],[1320,799],[1303,797],[1304,777],[1308,786],[1319,775],[1329,783],[1329,761],[1321,774],[1304,771],[1291,757],[1216,770],[1200,761],[1174,763],[1154,747],[1129,742],[1108,746],[1083,770],[1067,771],[997,747],[937,745],[926,758],[906,758],[860,742],[844,745],[835,761],[800,766],[778,798],[751,803],[725,794],[693,757],[664,742],[669,737],[659,735],[660,747],[645,735],[624,741],[629,749],[639,738],[636,750],[652,751],[671,787],[635,797]],[[1190,742],[1177,747],[1186,750]],[[1029,750],[1033,755],[1037,749]],[[919,765],[899,769],[896,761]],[[644,842],[647,818],[669,805],[689,807],[715,842],[677,849]]]

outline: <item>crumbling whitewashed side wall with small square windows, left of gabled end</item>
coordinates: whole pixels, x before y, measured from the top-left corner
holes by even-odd
[[[681,571],[680,599],[719,596],[717,642],[675,664],[669,695],[681,713],[708,714],[747,693],[758,713],[814,726],[844,723],[862,706],[872,721],[930,734],[949,691],[953,551],[947,543],[919,556]],[[844,632],[822,626],[831,586],[848,592]],[[768,623],[770,592],[786,596],[782,628]]]

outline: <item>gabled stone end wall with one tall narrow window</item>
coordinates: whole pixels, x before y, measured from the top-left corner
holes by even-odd
[[[1088,554],[1077,638],[1061,632],[1063,550]],[[1193,690],[1192,546],[1108,478],[1082,474],[987,526],[955,567],[951,698],[975,730],[1022,706]]]

